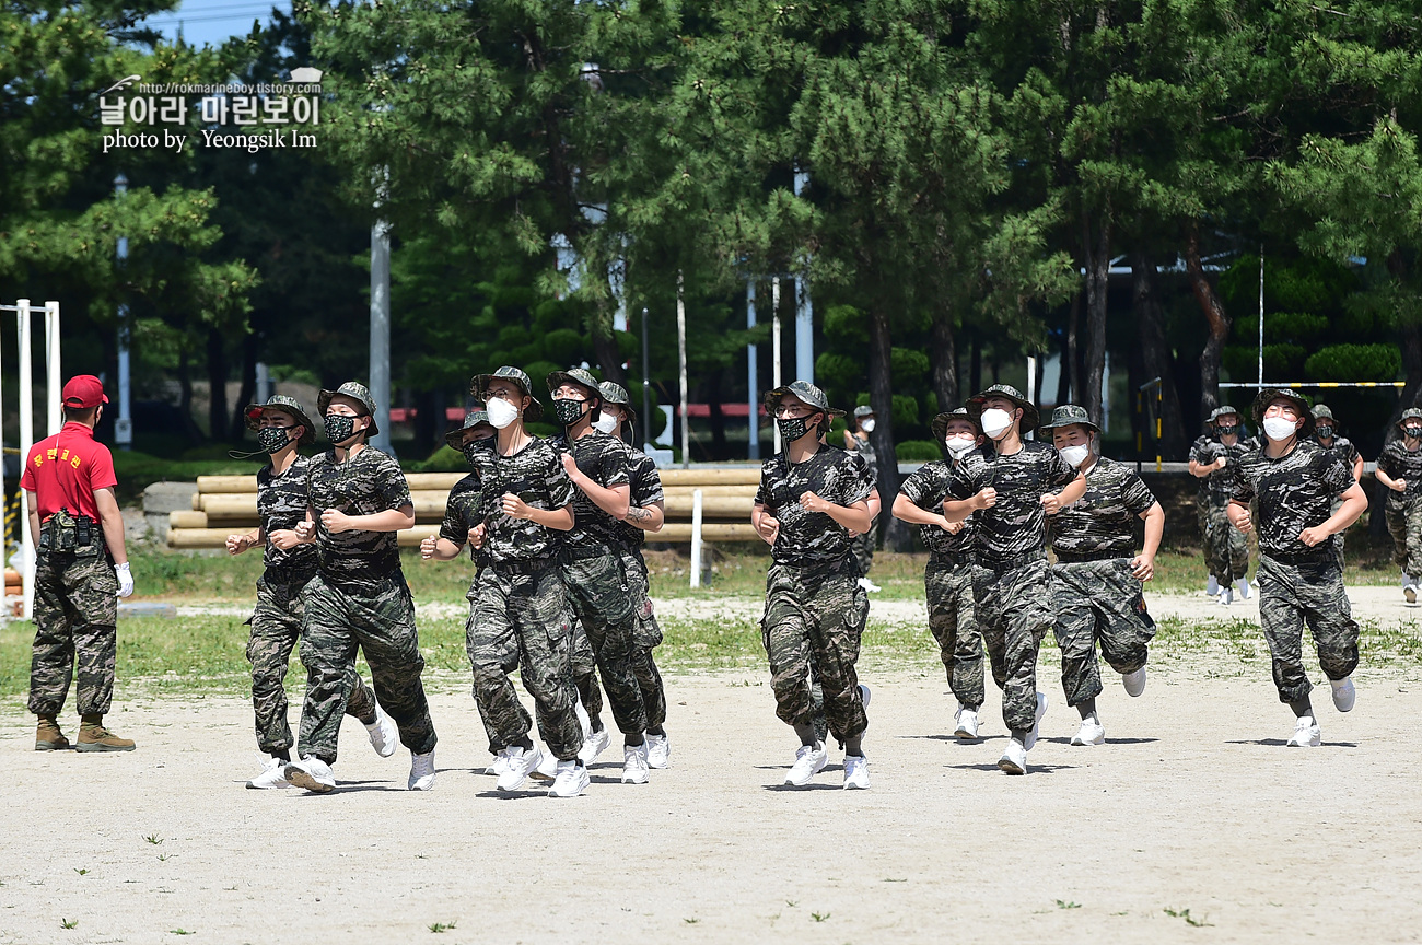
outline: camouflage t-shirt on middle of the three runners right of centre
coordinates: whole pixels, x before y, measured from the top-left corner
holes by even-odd
[[[997,490],[997,504],[975,513],[977,546],[985,561],[1005,561],[1045,547],[1042,496],[1058,492],[1076,475],[1055,446],[1028,439],[1011,456],[995,450],[968,453],[953,470],[948,492],[954,499],[971,499],[983,489]]]

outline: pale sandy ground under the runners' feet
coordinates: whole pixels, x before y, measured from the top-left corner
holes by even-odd
[[[674,766],[623,786],[614,747],[576,800],[498,796],[452,676],[431,685],[428,794],[348,719],[341,790],[319,797],[243,790],[242,699],[121,684],[111,723],[139,749],[104,756],[33,752],[7,706],[0,942],[427,941],[437,922],[437,942],[1415,941],[1422,684],[1362,672],[1345,716],[1324,688],[1324,746],[1298,750],[1266,662],[1210,669],[1172,664],[1140,699],[1112,678],[1094,749],[1068,745],[1044,672],[1032,772],[1008,777],[991,686],[964,745],[936,665],[870,662],[869,792],[840,790],[839,752],[781,784],[793,739],[752,671],[670,676]]]

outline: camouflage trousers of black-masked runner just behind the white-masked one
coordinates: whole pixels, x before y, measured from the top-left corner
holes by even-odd
[[[647,730],[647,706],[641,699],[637,674],[633,672],[636,595],[621,557],[616,550],[604,550],[606,554],[569,560],[563,566],[563,577],[573,612],[587,634],[617,729],[623,735],[640,735]],[[587,709],[587,705],[583,708]]]

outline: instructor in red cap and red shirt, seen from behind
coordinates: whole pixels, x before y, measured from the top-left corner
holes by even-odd
[[[94,441],[104,415],[104,385],[81,374],[64,385],[64,426],[24,460],[20,486],[36,541],[34,649],[30,712],[40,716],[37,752],[70,747],[58,715],[78,662],[80,752],[132,752],[104,728],[114,701],[118,600],[134,593],[124,550],[124,519],[114,497],[114,455]]]

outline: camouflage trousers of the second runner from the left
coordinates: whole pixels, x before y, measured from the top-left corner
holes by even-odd
[[[434,720],[419,681],[425,658],[419,652],[415,605],[405,576],[395,571],[373,587],[346,587],[321,576],[306,585],[301,618],[301,665],[306,702],[297,750],[327,765],[336,760],[341,718],[347,713],[356,675],[356,651],[365,654],[370,681],[381,708],[400,729],[400,742],[414,755],[434,750]]]

